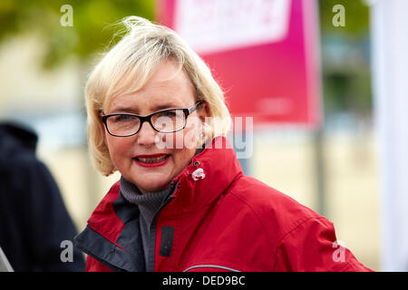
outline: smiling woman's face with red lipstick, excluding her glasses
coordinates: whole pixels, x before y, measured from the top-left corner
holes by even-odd
[[[182,70],[176,72],[174,63],[160,63],[140,91],[115,97],[104,114],[131,112],[145,116],[166,108],[193,106],[196,102],[189,77]],[[194,156],[204,111],[193,111],[186,128],[173,133],[155,131],[149,122],[143,122],[140,131],[130,137],[114,137],[105,128],[113,165],[142,193],[164,189]]]

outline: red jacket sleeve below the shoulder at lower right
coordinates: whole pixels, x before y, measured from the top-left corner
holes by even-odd
[[[335,237],[326,218],[306,218],[287,231],[277,246],[275,271],[365,272],[361,264]]]

